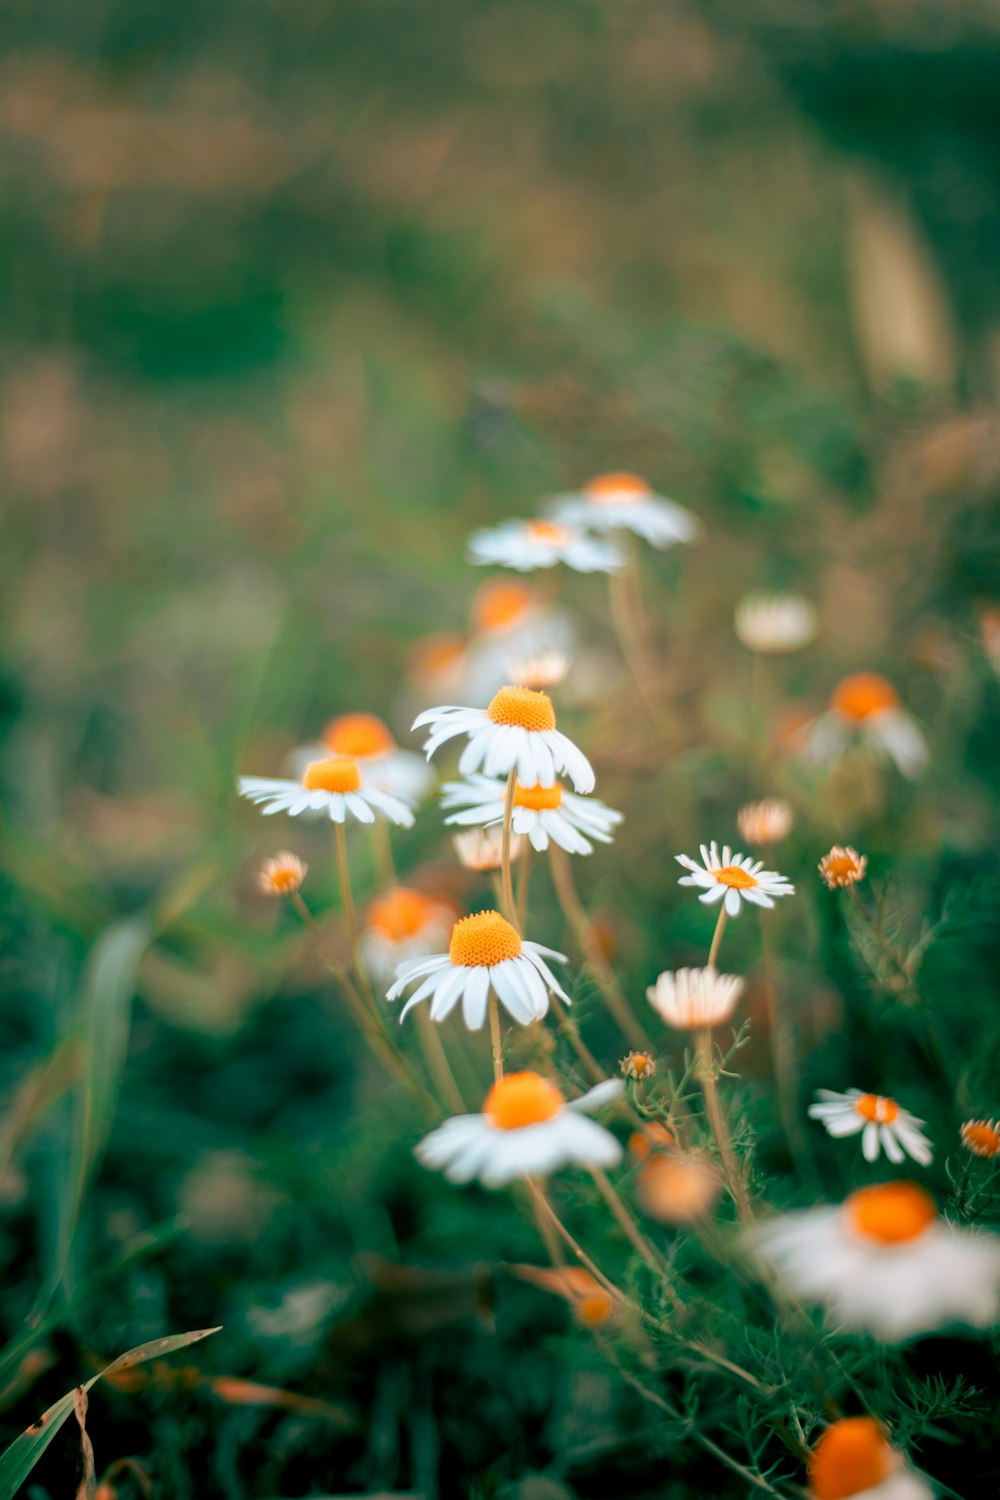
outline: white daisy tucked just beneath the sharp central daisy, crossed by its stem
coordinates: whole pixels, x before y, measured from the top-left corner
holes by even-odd
[[[442,808],[460,808],[445,818],[445,822],[460,826],[481,824],[486,828],[502,824],[505,795],[507,784],[489,776],[445,782],[441,789]],[[595,796],[576,796],[558,782],[553,786],[514,784],[511,828],[516,834],[523,834],[532,849],[547,849],[552,838],[567,854],[592,854],[591,838],[612,843],[610,830],[621,820],[622,814],[613,807],[606,807]]]

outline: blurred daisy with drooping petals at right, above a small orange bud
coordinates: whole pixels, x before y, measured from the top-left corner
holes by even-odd
[[[900,704],[892,682],[877,672],[856,672],[837,684],[826,712],[802,730],[802,753],[807,760],[829,764],[853,740],[888,756],[910,780],[928,760],[915,718]]]

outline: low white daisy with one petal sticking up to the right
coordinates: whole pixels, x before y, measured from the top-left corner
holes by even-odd
[[[481,1114],[445,1120],[421,1140],[415,1155],[450,1182],[478,1179],[484,1188],[546,1176],[568,1162],[613,1167],[621,1161],[621,1146],[586,1116],[621,1090],[621,1078],[609,1078],[567,1102],[541,1074],[508,1072],[486,1095]]]

